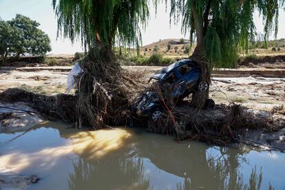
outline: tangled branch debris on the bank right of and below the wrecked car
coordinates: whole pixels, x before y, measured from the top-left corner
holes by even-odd
[[[239,142],[240,136],[251,129],[278,131],[285,126],[284,118],[266,116],[261,112],[231,104],[218,105],[213,110],[175,107],[172,112],[176,124],[165,113],[148,130],[162,134],[176,134],[178,141],[202,140],[217,145]]]

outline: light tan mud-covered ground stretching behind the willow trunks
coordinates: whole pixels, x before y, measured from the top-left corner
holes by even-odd
[[[11,87],[21,87],[41,94],[63,93],[66,90],[67,74],[70,68],[2,68],[0,70],[0,92]],[[125,66],[124,68],[143,72],[145,78],[142,80],[145,81],[151,74],[161,69],[156,66]],[[252,70],[256,71],[256,69]],[[241,72],[242,70],[229,70],[227,75],[231,75],[233,71]],[[262,69],[260,69],[260,73],[262,74]],[[280,77],[269,78],[258,75],[220,77],[219,74],[216,74],[212,79],[210,90],[210,96],[216,103],[239,103],[249,108],[265,111],[271,111],[273,107],[285,104],[285,78]]]

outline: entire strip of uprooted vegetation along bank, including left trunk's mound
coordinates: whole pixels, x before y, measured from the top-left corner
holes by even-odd
[[[76,76],[76,95],[54,96],[7,89],[0,101],[23,101],[42,114],[74,123],[76,127],[103,129],[109,125],[127,125],[130,106],[145,90],[158,90],[142,80],[143,72],[123,70],[107,47],[98,46],[79,61],[83,72]],[[176,106],[165,95],[165,111],[154,122],[139,120],[135,125],[161,134],[175,134],[177,140],[202,140],[219,145],[238,142],[248,129],[278,131],[284,127],[284,117],[272,112],[253,112],[241,105],[217,105],[215,109],[193,108],[185,101]],[[186,105],[186,106],[185,106]]]

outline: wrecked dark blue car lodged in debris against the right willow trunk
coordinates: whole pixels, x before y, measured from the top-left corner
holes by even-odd
[[[173,100],[182,100],[189,94],[209,90],[209,84],[201,79],[201,69],[196,61],[183,59],[156,72],[149,81],[157,81],[158,85],[167,87]],[[208,99],[206,108],[213,108],[215,103]],[[131,108],[132,117],[149,117],[155,121],[162,114],[163,103],[156,92],[145,92],[136,100]]]

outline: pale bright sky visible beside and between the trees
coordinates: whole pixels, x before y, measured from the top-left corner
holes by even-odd
[[[158,41],[159,39],[178,38],[181,34],[181,25],[169,25],[169,12],[165,12],[165,5],[158,7],[158,14],[154,14],[154,7],[151,8],[151,18],[149,19],[147,28],[142,31],[143,45]],[[69,39],[57,39],[56,41],[56,19],[54,10],[52,10],[52,0],[0,0],[0,17],[3,20],[10,20],[16,14],[23,14],[33,20],[41,23],[41,30],[46,32],[52,41],[52,54],[73,54],[81,52],[81,43],[72,45]],[[263,31],[262,19],[259,14],[254,14],[257,32]],[[184,36],[188,38],[189,36]],[[285,12],[279,10],[279,33],[277,39],[285,38]],[[273,39],[273,37],[271,37]]]

